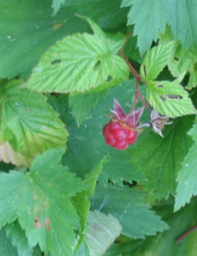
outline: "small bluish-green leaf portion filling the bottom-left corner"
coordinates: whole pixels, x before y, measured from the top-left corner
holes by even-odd
[[[12,242],[7,238],[5,230],[0,230],[0,255],[3,256],[19,256]]]

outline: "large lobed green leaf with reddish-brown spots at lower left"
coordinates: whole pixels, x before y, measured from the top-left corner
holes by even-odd
[[[31,247],[51,256],[73,255],[80,230],[70,196],[87,186],[59,164],[64,149],[39,154],[30,172],[0,173],[0,226],[18,218]]]

